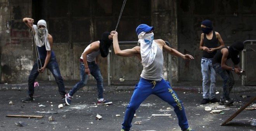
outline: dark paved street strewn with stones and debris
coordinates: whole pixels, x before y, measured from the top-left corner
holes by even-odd
[[[47,85],[47,86],[43,86]],[[72,106],[64,106],[59,109],[61,99],[55,84],[40,83],[36,87],[35,101],[23,103],[21,99],[26,96],[26,84],[0,85],[0,131],[119,131],[123,121],[126,105],[132,95],[132,87],[111,86],[105,87],[104,96],[113,102],[109,106],[95,105],[97,92],[95,87],[88,86],[78,91],[73,98]],[[71,86],[67,86],[71,87]],[[255,87],[249,87],[251,91],[239,89],[231,93],[231,97],[237,101],[234,106],[226,107],[224,114],[210,114],[205,111],[204,106],[216,107],[218,104],[199,103],[202,94],[197,86],[190,88],[173,87],[185,106],[190,126],[196,131],[256,131],[256,126],[251,126],[251,120],[256,118],[256,110],[244,110],[226,126],[221,126],[226,119],[234,114],[240,107],[244,106],[252,97],[256,96]],[[244,87],[248,88],[248,87]],[[254,89],[254,90],[253,90]],[[52,91],[51,91],[52,90]],[[67,90],[68,91],[68,90]],[[246,98],[242,98],[246,95]],[[216,94],[220,98],[220,94]],[[9,105],[12,101],[14,105]],[[239,102],[240,101],[240,102]],[[39,105],[47,107],[38,107]],[[9,118],[8,114],[37,115],[43,118]],[[96,120],[95,116],[102,116]],[[116,115],[119,114],[119,117]],[[131,131],[156,130],[156,131],[180,131],[173,108],[158,97],[148,97],[136,112],[137,117],[133,119]],[[155,116],[152,114],[171,114],[171,116]],[[64,117],[66,116],[66,118]],[[52,116],[54,121],[49,121]],[[17,126],[19,121],[25,126]],[[134,124],[135,121],[142,121],[143,124]]]

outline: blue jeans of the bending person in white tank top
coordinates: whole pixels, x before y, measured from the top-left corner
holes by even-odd
[[[100,73],[100,68],[95,63],[95,61],[87,62],[87,64],[90,69],[90,73],[97,81],[97,88],[99,92],[98,98],[102,99],[103,98],[103,78]],[[80,72],[81,81],[76,83],[76,85],[69,91],[70,96],[73,96],[76,91],[84,87],[87,83],[88,75],[85,74],[85,65],[83,64],[83,62],[80,62],[80,71],[81,71]]]

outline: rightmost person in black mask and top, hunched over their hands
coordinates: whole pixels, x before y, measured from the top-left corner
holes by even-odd
[[[235,81],[231,71],[236,74],[241,74],[243,71],[239,67],[239,52],[244,49],[242,42],[235,42],[230,47],[223,47],[217,51],[213,57],[213,68],[223,79],[223,95],[220,99],[220,105],[230,106],[233,104],[229,97],[229,93],[233,88]],[[227,60],[230,59],[234,63],[234,67],[230,67],[226,64]]]

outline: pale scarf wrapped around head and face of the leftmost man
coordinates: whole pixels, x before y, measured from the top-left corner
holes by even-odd
[[[45,28],[44,29],[41,28],[36,31],[36,34],[35,34],[36,45],[38,47],[42,47],[43,45],[45,45],[46,50],[51,50],[50,42],[48,40],[48,30],[47,30],[46,21],[39,20],[37,22],[37,28],[39,27],[39,25],[43,25],[43,26],[45,26]]]

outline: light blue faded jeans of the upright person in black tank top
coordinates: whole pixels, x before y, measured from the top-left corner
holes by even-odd
[[[215,83],[217,74],[212,66],[213,59],[202,58],[201,60],[201,72],[202,72],[202,88],[203,88],[203,98],[213,99],[215,96]],[[210,79],[210,88],[209,88]]]

